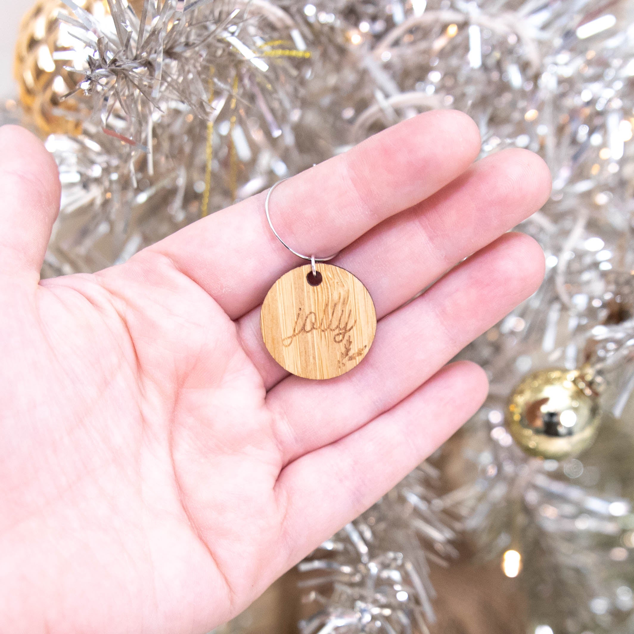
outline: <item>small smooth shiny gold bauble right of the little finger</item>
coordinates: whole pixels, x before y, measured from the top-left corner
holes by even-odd
[[[508,431],[531,456],[562,460],[590,447],[600,421],[598,395],[579,370],[533,372],[515,387]]]

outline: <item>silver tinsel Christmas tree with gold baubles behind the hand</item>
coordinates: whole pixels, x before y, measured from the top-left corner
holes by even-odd
[[[469,114],[482,156],[539,153],[552,195],[518,230],[547,276],[461,354],[488,401],[300,564],[300,628],[433,632],[430,571],[475,555],[524,581],[531,633],[634,631],[633,3],[39,0],[16,75],[3,118],[39,131],[63,184],[48,276],[425,110]]]

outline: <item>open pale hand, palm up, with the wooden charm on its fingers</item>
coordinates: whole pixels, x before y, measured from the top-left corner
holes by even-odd
[[[358,368],[316,382],[262,344],[259,304],[302,264],[264,195],[40,281],[56,167],[0,129],[0,631],[202,634],[477,410],[484,372],[446,364],[540,284],[538,245],[505,232],[550,193],[533,153],[479,146],[465,115],[425,113],[275,191],[280,235],[341,250],[380,320]]]

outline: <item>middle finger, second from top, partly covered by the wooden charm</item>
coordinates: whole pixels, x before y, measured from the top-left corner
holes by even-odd
[[[540,157],[527,150],[500,152],[368,231],[333,263],[363,281],[380,319],[521,223],[549,194],[550,172]],[[238,329],[266,389],[271,389],[288,373],[264,346],[259,307],[238,321]]]

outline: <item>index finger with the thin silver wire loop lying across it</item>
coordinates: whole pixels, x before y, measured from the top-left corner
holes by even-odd
[[[450,183],[479,148],[477,127],[467,115],[418,115],[281,184],[271,197],[271,219],[296,251],[328,256]],[[169,257],[233,319],[257,306],[273,282],[300,262],[273,235],[264,194],[150,250]]]

